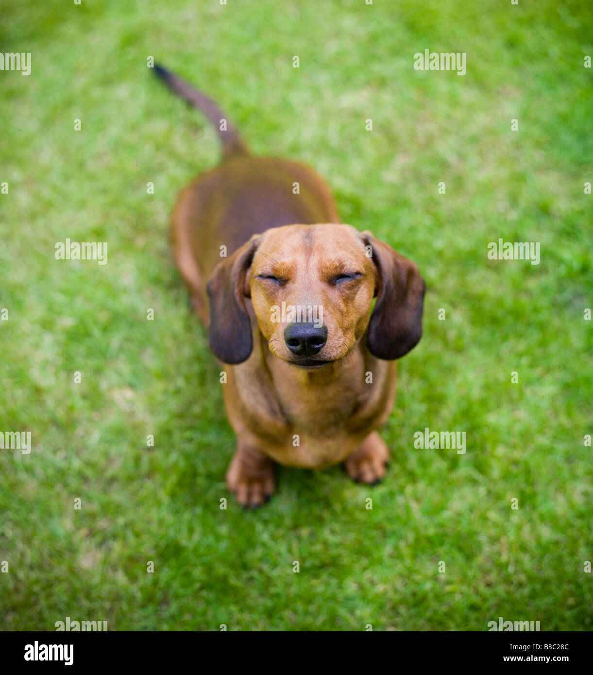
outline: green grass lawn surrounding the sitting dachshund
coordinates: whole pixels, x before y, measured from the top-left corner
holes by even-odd
[[[33,449],[0,450],[0,628],[591,630],[586,3],[2,5],[1,49],[32,74],[0,72],[0,430]],[[465,51],[467,74],[416,72],[426,48]],[[149,55],[418,263],[425,330],[382,485],[280,468],[265,508],[228,495],[219,369],[167,240],[220,148]],[[56,261],[67,237],[107,241],[109,263]],[[499,237],[541,242],[540,265],[488,261]],[[414,450],[425,426],[467,431],[467,453]]]

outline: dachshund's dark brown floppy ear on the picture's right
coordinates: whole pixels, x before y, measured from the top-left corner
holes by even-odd
[[[367,348],[373,356],[393,360],[407,354],[422,335],[426,284],[415,263],[391,246],[363,232],[377,270],[377,301],[371,314]]]

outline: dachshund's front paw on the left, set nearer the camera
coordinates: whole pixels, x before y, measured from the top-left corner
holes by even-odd
[[[226,472],[226,484],[243,508],[257,508],[276,491],[274,462],[239,444]]]

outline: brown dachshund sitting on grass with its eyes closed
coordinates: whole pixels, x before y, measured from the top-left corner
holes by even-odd
[[[315,171],[249,155],[213,101],[155,71],[207,115],[224,148],[222,164],[180,194],[172,238],[211,349],[228,364],[224,402],[238,437],[228,487],[259,506],[274,492],[274,462],[344,461],[353,479],[378,482],[388,449],[376,429],[394,402],[394,359],[422,332],[416,265],[339,224]]]

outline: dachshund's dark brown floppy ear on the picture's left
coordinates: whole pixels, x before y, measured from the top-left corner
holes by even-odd
[[[245,308],[249,297],[247,270],[257,250],[259,237],[252,237],[215,267],[206,290],[210,304],[208,342],[224,363],[241,363],[251,354],[251,321]]]

